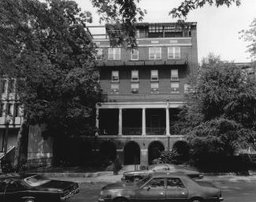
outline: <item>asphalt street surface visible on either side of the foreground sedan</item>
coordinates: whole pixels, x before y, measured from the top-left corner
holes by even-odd
[[[255,202],[256,182],[213,182],[221,188],[224,202]],[[69,202],[96,202],[102,186],[106,183],[81,183],[80,193]]]

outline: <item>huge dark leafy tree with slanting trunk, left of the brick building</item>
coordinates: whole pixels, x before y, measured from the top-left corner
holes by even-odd
[[[101,90],[96,50],[86,30],[90,13],[64,0],[2,0],[0,7],[0,68],[9,78],[17,78],[24,106],[18,166],[29,125],[46,123],[44,136],[94,134]]]

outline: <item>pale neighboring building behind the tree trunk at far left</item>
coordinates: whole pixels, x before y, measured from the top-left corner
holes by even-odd
[[[16,79],[0,78],[0,160],[4,157],[5,142],[7,141],[7,160],[14,158],[17,146],[17,134],[23,122],[23,108],[19,102]],[[7,123],[7,115],[11,118]],[[9,128],[6,137],[6,127]],[[28,134],[28,159],[48,158],[53,154],[50,138],[43,139],[39,126],[30,127]]]

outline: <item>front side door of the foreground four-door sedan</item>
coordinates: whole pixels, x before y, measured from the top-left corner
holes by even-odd
[[[135,201],[138,202],[164,202],[165,178],[151,178],[146,185],[136,190]]]

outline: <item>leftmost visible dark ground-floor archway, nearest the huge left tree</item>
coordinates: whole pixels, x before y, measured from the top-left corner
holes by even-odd
[[[112,141],[103,141],[99,150],[102,160],[108,162],[115,160],[117,157],[117,147]]]

